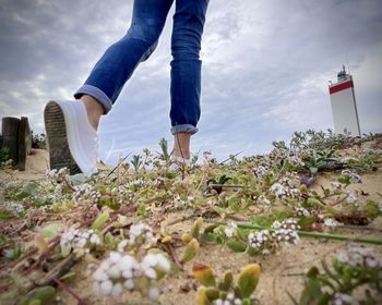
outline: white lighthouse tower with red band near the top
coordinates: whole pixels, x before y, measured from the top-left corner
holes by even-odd
[[[350,74],[346,73],[345,65],[337,74],[337,83],[330,82],[334,132],[342,134],[349,132],[353,136],[360,136],[354,82]]]

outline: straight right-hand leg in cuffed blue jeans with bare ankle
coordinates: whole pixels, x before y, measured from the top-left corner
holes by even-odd
[[[200,119],[201,40],[208,0],[177,0],[171,37],[171,133],[174,156],[190,158]]]

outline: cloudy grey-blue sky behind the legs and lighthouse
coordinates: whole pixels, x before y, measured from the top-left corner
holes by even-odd
[[[44,132],[49,99],[71,99],[130,24],[132,0],[0,0],[0,114]],[[170,12],[158,48],[103,118],[99,154],[157,150],[169,133]],[[266,152],[295,131],[333,129],[327,81],[349,65],[362,132],[382,132],[381,0],[211,0],[194,152]]]

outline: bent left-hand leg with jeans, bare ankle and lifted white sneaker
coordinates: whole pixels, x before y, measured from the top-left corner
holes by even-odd
[[[97,160],[99,118],[116,101],[136,65],[156,47],[174,0],[135,0],[127,35],[114,44],[74,95],[82,102],[55,100],[45,108],[51,169],[92,174]]]

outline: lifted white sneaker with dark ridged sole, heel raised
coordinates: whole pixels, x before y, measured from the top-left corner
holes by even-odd
[[[81,101],[52,100],[44,111],[50,168],[67,167],[70,173],[96,172],[98,137]]]

